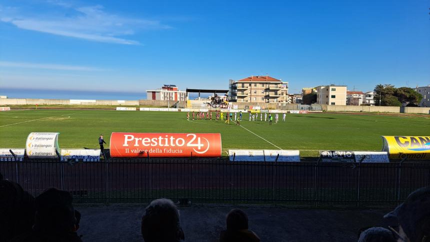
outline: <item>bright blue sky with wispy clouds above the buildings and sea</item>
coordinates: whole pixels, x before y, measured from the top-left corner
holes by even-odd
[[[0,87],[430,84],[428,0],[0,0]]]

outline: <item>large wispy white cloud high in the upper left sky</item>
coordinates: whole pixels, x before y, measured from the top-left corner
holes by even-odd
[[[67,3],[53,1],[54,5],[69,7]],[[70,8],[71,9],[71,8]],[[16,11],[0,11],[0,20],[18,28],[55,35],[86,39],[91,41],[140,44],[136,40],[123,38],[141,29],[167,29],[170,26],[157,20],[128,18],[105,12],[103,6],[82,6],[73,8],[72,16],[22,16]]]

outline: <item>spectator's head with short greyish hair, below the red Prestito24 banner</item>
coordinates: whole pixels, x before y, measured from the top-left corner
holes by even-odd
[[[141,233],[145,242],[179,242],[184,240],[179,211],[169,199],[156,199],[145,209]]]

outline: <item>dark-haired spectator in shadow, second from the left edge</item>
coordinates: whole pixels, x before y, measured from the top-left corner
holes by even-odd
[[[35,199],[32,231],[13,242],[81,242],[76,234],[80,214],[74,210],[70,193],[48,188]]]

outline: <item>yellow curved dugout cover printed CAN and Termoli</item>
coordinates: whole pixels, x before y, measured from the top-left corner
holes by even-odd
[[[382,136],[391,160],[430,160],[430,136]]]

